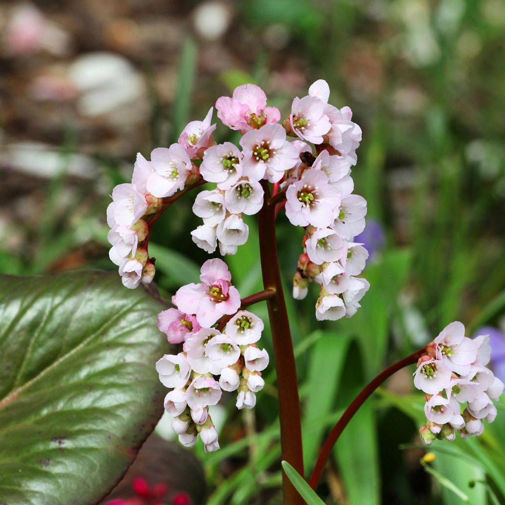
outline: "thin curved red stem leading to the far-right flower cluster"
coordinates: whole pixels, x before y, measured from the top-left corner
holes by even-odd
[[[347,426],[348,422],[352,419],[359,408],[365,403],[365,400],[391,375],[393,375],[398,370],[406,367],[408,365],[412,365],[417,363],[417,360],[425,354],[425,349],[420,349],[414,354],[407,356],[407,358],[403,358],[398,361],[394,365],[391,365],[389,368],[386,368],[383,372],[381,372],[375,379],[373,379],[369,384],[367,384],[358,396],[352,400],[352,403],[347,407],[347,410],[342,414],[342,417],[338,420],[337,424],[331,431],[329,437],[326,439],[326,442],[319,453],[319,457],[316,462],[316,466],[314,468],[314,472],[309,480],[309,485],[312,489],[316,489],[319,479],[321,478],[321,474],[323,473],[324,467],[328,458],[330,456],[330,452],[333,449],[333,446],[338,440],[338,437],[342,434],[342,431]]]

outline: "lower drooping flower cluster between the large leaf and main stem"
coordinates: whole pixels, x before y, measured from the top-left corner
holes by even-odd
[[[180,442],[190,447],[199,433],[205,450],[214,451],[219,443],[209,406],[219,402],[222,390],[238,390],[237,408],[252,409],[255,393],[265,385],[261,371],[269,357],[257,343],[263,321],[239,310],[240,295],[226,264],[208,260],[200,273],[201,283],[179,288],[172,298],[176,308],[158,316],[160,330],[170,343],[182,342],[183,351],[165,355],[156,370],[163,385],[174,388],[165,397],[165,409]],[[232,317],[220,332],[213,325],[223,316]]]

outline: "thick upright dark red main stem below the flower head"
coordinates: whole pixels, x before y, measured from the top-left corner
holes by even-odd
[[[267,307],[272,330],[277,389],[279,392],[282,459],[292,465],[300,475],[304,475],[296,366],[279,272],[275,237],[275,204],[284,197],[285,192],[282,191],[270,198],[268,182],[262,181],[262,186],[265,190],[265,199],[258,214],[260,257],[263,285],[265,289],[275,289],[274,296],[267,300]],[[285,474],[282,475],[282,490],[284,505],[304,505],[304,499],[298,494]]]

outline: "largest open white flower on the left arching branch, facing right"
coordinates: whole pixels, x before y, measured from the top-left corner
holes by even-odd
[[[164,198],[184,188],[191,171],[191,160],[181,145],[172,144],[169,148],[157,147],[151,152],[151,164],[155,171],[146,183],[150,194]]]

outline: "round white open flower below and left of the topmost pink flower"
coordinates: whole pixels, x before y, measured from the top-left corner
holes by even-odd
[[[206,149],[200,165],[201,176],[217,182],[219,189],[228,189],[242,176],[242,154],[231,142],[213,145]]]

